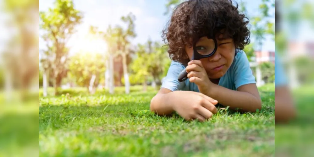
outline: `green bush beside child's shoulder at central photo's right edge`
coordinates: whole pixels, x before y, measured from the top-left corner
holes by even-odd
[[[272,62],[263,62],[260,66],[264,82],[273,83],[275,81],[275,64]]]

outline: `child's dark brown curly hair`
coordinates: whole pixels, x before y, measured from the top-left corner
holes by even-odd
[[[238,5],[234,6],[231,0],[189,0],[174,9],[162,38],[169,57],[186,63],[185,46],[193,46],[204,35],[226,33],[233,38],[236,48],[243,50],[250,43],[248,23],[249,19],[240,14]]]

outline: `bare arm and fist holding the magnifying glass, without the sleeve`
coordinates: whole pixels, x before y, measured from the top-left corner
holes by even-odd
[[[188,74],[190,82],[197,84],[201,93],[218,100],[223,106],[251,112],[255,112],[256,109],[261,110],[262,102],[256,84],[245,84],[235,91],[212,83],[201,61],[191,61],[186,69],[190,72]]]

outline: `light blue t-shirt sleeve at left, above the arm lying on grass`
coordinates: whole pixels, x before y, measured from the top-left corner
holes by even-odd
[[[167,76],[164,78],[161,88],[166,88],[171,91],[181,90],[184,86],[184,82],[178,81],[178,76],[184,66],[178,62],[172,61],[167,72]]]

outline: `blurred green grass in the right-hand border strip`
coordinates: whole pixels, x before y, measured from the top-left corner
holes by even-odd
[[[313,94],[311,85],[293,91],[297,117],[289,124],[276,125],[276,154],[314,156]]]

